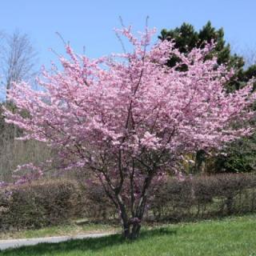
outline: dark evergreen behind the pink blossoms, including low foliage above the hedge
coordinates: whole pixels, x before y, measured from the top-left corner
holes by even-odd
[[[162,30],[158,36],[162,41],[174,40],[174,46],[183,54],[188,54],[194,47],[203,48],[206,43],[214,42],[214,50],[207,55],[206,58],[218,58],[218,65],[225,64],[234,69],[234,77],[226,84],[228,91],[239,90],[253,77],[256,77],[256,65],[245,68],[245,61],[238,54],[231,53],[230,44],[226,43],[224,39],[224,30],[222,28],[216,29],[212,26],[211,22],[207,22],[202,29],[197,31],[189,23],[183,23],[182,26],[176,27],[173,30]],[[170,60],[167,65],[173,67],[180,62],[177,56],[170,56]],[[178,70],[185,71],[187,66],[183,65]],[[254,84],[254,90],[256,89],[256,83]],[[256,109],[256,104],[254,104]],[[226,149],[226,156],[220,154],[217,158],[210,159],[210,162],[214,160],[215,171],[227,170],[229,172],[245,172],[252,171],[255,168],[255,134],[250,139],[240,139],[238,142],[232,143]],[[203,150],[198,150],[195,156],[194,171],[200,171],[202,168],[202,162],[206,161],[206,155]],[[212,171],[212,170],[210,170]]]

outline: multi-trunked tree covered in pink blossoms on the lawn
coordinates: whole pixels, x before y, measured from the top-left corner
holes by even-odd
[[[10,100],[28,115],[5,114],[6,122],[26,131],[22,139],[57,149],[62,168],[98,178],[120,214],[124,236],[136,238],[153,184],[166,170],[178,173],[182,154],[251,134],[255,94],[251,83],[226,93],[223,85],[233,73],[215,58],[206,60],[212,45],[185,55],[174,42],[152,46],[154,30],[138,37],[130,27],[117,32],[132,51],[90,59],[67,45],[62,69],[42,70],[42,90],[25,82],[10,90]],[[182,62],[170,68],[165,63],[172,54]],[[187,68],[181,72],[182,65]]]

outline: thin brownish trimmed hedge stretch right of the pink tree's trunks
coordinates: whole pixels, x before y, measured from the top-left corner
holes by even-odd
[[[255,174],[169,179],[150,199],[155,221],[189,221],[256,211]]]

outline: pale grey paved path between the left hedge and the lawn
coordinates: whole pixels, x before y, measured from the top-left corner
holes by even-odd
[[[78,234],[74,236],[62,236],[62,237],[49,237],[49,238],[27,238],[27,239],[8,239],[0,240],[0,250],[6,250],[8,248],[20,247],[20,246],[34,246],[42,242],[64,242],[71,239],[84,239],[84,238],[101,238],[113,233],[101,233],[101,234]]]

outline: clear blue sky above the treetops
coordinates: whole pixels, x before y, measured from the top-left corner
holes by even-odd
[[[234,49],[256,48],[256,0],[2,0],[0,30],[11,33],[15,29],[29,34],[38,50],[40,64],[49,65],[53,48],[62,53],[58,31],[74,49],[99,57],[121,51],[113,28],[118,16],[126,25],[142,30],[146,16],[149,26],[158,32],[190,22],[199,29],[208,20],[223,27],[226,40]]]

